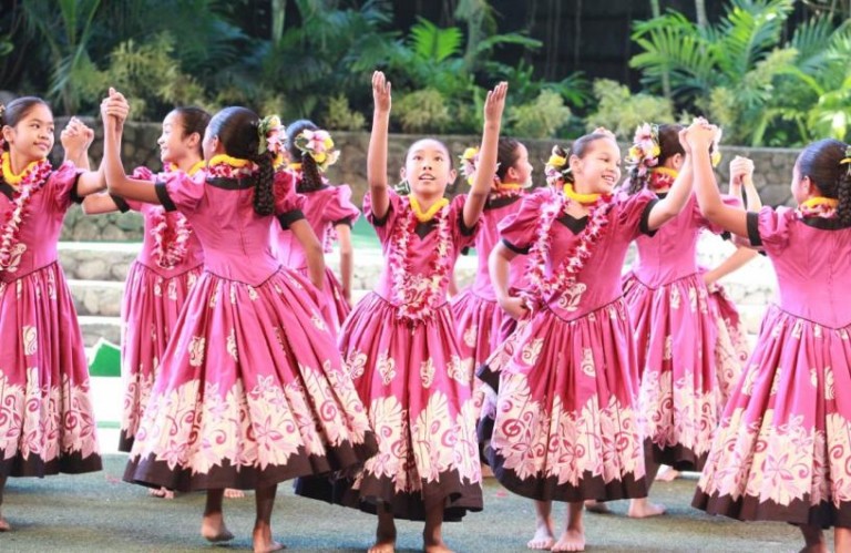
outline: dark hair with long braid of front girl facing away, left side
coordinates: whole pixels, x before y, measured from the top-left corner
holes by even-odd
[[[275,171],[271,153],[257,153],[260,147],[259,124],[260,117],[252,110],[229,106],[209,120],[207,132],[211,136],[218,136],[227,155],[250,160],[259,165],[260,171],[254,184],[254,211],[258,215],[271,215],[275,213],[275,195],[271,190]]]

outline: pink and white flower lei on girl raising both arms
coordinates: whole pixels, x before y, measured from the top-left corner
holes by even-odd
[[[417,228],[417,216],[407,202],[407,209],[401,221],[393,228],[392,242],[396,247],[390,248],[388,265],[392,274],[396,316],[398,319],[410,322],[419,322],[434,316],[435,308],[442,298],[441,290],[449,281],[449,273],[452,270],[450,248],[452,236],[449,228],[449,209],[447,204],[438,212],[438,247],[429,262],[429,270],[422,275],[417,274],[411,267],[413,250],[413,235]]]

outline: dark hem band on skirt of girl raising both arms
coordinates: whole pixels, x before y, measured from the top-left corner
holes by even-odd
[[[396,519],[426,520],[426,496],[442,498],[443,521],[460,522],[468,512],[483,508],[480,482],[470,482],[458,472],[440,473],[435,481],[422,482],[422,490],[401,492],[388,477],[370,477],[357,484],[351,479],[306,478],[296,483],[296,494],[376,514],[378,503],[388,506]]]

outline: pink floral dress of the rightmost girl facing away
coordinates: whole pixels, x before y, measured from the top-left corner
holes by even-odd
[[[851,528],[851,228],[820,229],[790,208],[765,207],[758,232],[779,303],[724,411],[694,504],[741,520]]]

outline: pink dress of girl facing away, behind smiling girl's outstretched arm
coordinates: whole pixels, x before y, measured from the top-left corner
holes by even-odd
[[[740,204],[732,197],[725,202]],[[640,373],[642,431],[656,461],[680,470],[703,468],[722,407],[726,386],[719,373],[741,371],[738,360],[719,355],[724,321],[697,266],[705,229],[721,231],[709,225],[693,195],[653,237],[636,239],[638,260],[624,278]]]

